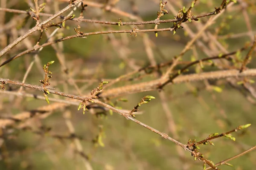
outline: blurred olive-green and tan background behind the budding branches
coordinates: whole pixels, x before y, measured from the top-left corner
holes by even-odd
[[[173,19],[178,11],[191,6],[191,0],[166,0],[165,14],[160,20]],[[212,23],[192,48],[183,55],[175,70],[195,59],[203,59],[219,54],[237,51],[233,61],[204,62],[204,68],[195,65],[184,74],[193,74],[220,69],[240,68],[241,61],[249,48],[239,49],[253,42],[256,30],[256,1],[237,0]],[[45,4],[43,4],[45,3]],[[160,0],[94,0],[83,11],[84,19],[118,22],[148,21],[157,18]],[[192,15],[215,11],[222,0],[200,0],[192,8]],[[55,14],[65,8],[65,0],[38,0],[45,6],[42,12]],[[0,50],[23,35],[36,21],[28,14],[6,12],[3,8],[23,11],[35,9],[33,0],[0,0]],[[71,11],[71,10],[70,10]],[[70,11],[63,14],[66,16]],[[120,12],[122,11],[122,12]],[[79,17],[81,7],[74,11]],[[41,16],[40,21],[48,17]],[[54,60],[50,66],[51,87],[68,94],[86,96],[102,80],[109,82],[134,72],[111,88],[147,82],[159,78],[167,67],[158,71],[138,71],[148,65],[167,63],[180,54],[186,44],[207,23],[209,17],[199,21],[182,23],[184,28],[171,31],[137,33],[101,34],[74,38],[47,46],[40,52],[25,54],[0,67],[0,77],[23,81],[28,68],[26,83],[41,85],[44,79],[43,65]],[[60,18],[53,22],[58,23]],[[65,27],[59,28],[49,41],[76,34],[73,28],[81,26],[80,31],[131,30],[134,26],[104,25],[98,23],[68,20]],[[153,29],[154,24],[138,25],[138,29]],[[161,23],[158,28],[170,28],[173,23]],[[47,41],[56,27],[43,32],[39,45]],[[23,40],[15,48],[0,58],[0,63],[36,45],[40,31]],[[255,52],[248,68],[254,68]],[[240,62],[239,62],[240,61]],[[116,108],[131,111],[145,95],[156,99],[142,105],[136,119],[167,133],[186,144],[189,139],[206,139],[211,133],[223,133],[239,125],[252,125],[233,133],[236,141],[227,138],[213,140],[215,146],[202,145],[204,156],[217,163],[255,146],[256,116],[255,96],[239,82],[248,82],[254,89],[253,77],[246,79],[218,79],[201,82],[188,82],[167,85],[162,92],[146,91],[110,97],[104,101]],[[189,152],[169,140],[125,119],[117,113],[113,115],[102,108],[91,108],[84,115],[77,111],[79,101],[65,104],[51,101],[67,98],[49,94],[50,105],[35,95],[43,92],[29,88],[5,85],[0,91],[0,118],[12,120],[0,130],[0,169],[1,170],[199,170],[202,162],[194,161]],[[250,89],[251,89],[250,88]],[[8,93],[10,92],[10,93]],[[32,94],[32,96],[29,96]],[[126,101],[127,100],[127,101]],[[124,102],[126,101],[126,102]],[[20,115],[29,114],[26,119]],[[18,116],[17,116],[18,115]],[[17,117],[15,117],[17,116]],[[233,167],[221,165],[224,170],[251,170],[256,166],[256,152],[247,153],[230,161]]]

